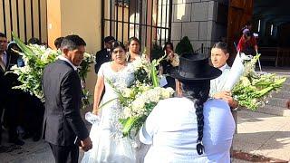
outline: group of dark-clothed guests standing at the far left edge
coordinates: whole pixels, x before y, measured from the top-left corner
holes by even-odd
[[[31,38],[28,43],[41,42]],[[6,35],[0,33],[0,147],[4,129],[8,131],[8,141],[15,145],[24,145],[24,139],[29,138],[38,141],[42,134],[43,102],[27,92],[13,89],[20,84],[17,75],[6,73],[14,64],[24,66],[17,52],[21,52],[18,45],[8,43]]]

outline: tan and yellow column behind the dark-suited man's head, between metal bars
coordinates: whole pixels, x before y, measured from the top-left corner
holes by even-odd
[[[47,1],[48,43],[54,48],[57,37],[78,34],[87,43],[87,53],[101,49],[102,1],[49,0]],[[96,74],[91,65],[86,87],[93,93]]]

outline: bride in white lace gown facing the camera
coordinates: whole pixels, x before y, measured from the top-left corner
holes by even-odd
[[[84,153],[82,162],[110,162],[133,163],[136,162],[135,152],[131,146],[131,139],[123,138],[121,133],[122,108],[116,100],[118,94],[115,87],[128,87],[134,80],[134,75],[129,70],[126,62],[125,47],[120,42],[113,43],[111,49],[112,62],[102,64],[98,72],[98,80],[94,91],[92,113],[100,117],[100,121],[92,124],[90,138],[93,148]],[[102,91],[102,110],[99,109]],[[107,102],[107,103],[106,103]],[[106,104],[105,104],[106,103]]]

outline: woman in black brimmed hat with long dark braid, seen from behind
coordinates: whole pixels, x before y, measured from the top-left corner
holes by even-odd
[[[180,57],[169,71],[180,97],[160,101],[140,129],[140,141],[151,144],[145,163],[230,162],[235,121],[226,101],[208,100],[210,80],[220,74],[202,54]]]

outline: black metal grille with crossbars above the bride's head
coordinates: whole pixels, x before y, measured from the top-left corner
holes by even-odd
[[[171,17],[172,0],[102,0],[102,43],[108,35],[123,43],[135,36],[151,50],[170,40]]]

